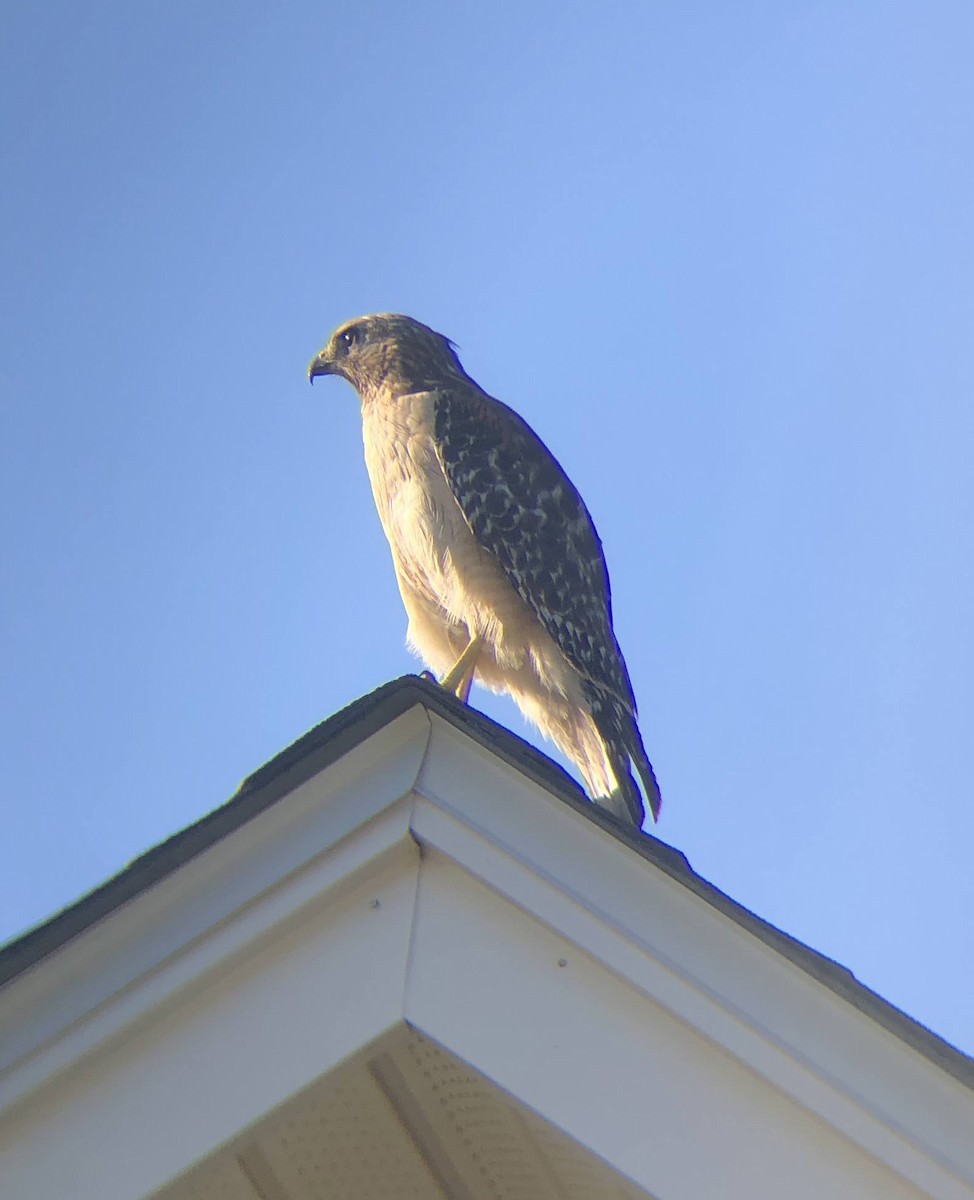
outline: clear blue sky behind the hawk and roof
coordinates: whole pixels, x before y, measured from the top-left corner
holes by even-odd
[[[415,670],[305,379],[395,310],[585,496],[660,836],[974,1051],[972,53],[966,0],[6,4],[0,937]]]

